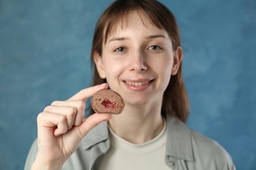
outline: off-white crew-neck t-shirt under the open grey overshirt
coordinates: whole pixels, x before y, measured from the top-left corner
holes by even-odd
[[[133,144],[118,137],[110,128],[110,150],[96,161],[98,170],[170,170],[165,164],[166,125],[146,143]]]

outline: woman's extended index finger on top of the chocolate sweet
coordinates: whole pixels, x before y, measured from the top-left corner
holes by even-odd
[[[72,97],[70,97],[69,100],[87,100],[89,97],[92,97],[96,92],[98,92],[98,90],[102,90],[102,89],[106,89],[108,88],[108,84],[107,83],[103,83],[103,84],[99,84],[96,86],[92,86],[90,88],[85,88],[83,90],[81,90],[80,92],[76,93],[75,95],[73,95]]]

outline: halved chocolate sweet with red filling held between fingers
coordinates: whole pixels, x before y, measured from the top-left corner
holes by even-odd
[[[120,114],[125,108],[123,98],[113,90],[99,90],[93,95],[91,107],[98,113]]]

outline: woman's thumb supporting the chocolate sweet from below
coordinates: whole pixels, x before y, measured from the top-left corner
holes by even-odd
[[[100,122],[110,120],[112,118],[111,114],[99,114],[95,113],[89,118],[87,118],[83,123],[79,126],[79,131],[81,133],[81,137],[85,137],[87,133],[93,129],[93,127],[97,126],[100,124]]]

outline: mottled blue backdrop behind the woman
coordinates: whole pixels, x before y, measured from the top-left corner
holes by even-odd
[[[91,84],[93,30],[111,2],[0,0],[0,169],[23,169],[37,114]],[[255,170],[256,1],[161,2],[181,29],[188,126]]]

